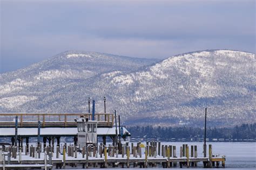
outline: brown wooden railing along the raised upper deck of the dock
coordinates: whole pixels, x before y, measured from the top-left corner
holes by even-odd
[[[0,113],[0,127],[15,127],[15,117],[18,117],[18,127],[37,127],[41,121],[42,127],[76,127],[74,119],[84,115],[92,120],[91,113]],[[113,113],[95,113],[98,127],[112,127]]]

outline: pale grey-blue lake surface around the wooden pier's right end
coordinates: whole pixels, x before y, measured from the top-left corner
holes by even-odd
[[[179,156],[179,147],[182,146],[183,144],[185,143],[184,142],[162,142],[161,143],[161,145],[175,145],[177,147],[177,156]],[[186,144],[188,144],[188,146],[197,145],[198,157],[203,157],[202,142],[187,142]],[[208,150],[208,144],[212,144],[213,154],[226,156],[225,168],[230,170],[231,169],[236,169],[236,170],[237,169],[256,169],[256,142],[208,142],[207,150]],[[208,152],[207,152],[207,155],[208,155]],[[177,166],[177,168],[179,168],[179,166]],[[203,164],[198,164],[197,168],[193,168],[193,167],[191,168],[207,169],[207,168],[203,168]],[[128,169],[128,168],[121,168],[121,169]],[[129,169],[138,169],[138,168],[129,168]],[[147,169],[163,169],[163,168],[150,167]]]

